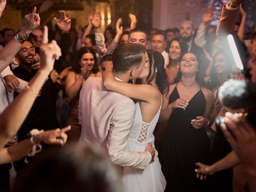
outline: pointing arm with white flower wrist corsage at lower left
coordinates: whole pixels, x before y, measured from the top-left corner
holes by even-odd
[[[70,130],[70,126],[67,126],[66,128],[63,128],[61,130],[48,130],[46,132],[33,136],[33,141],[36,144],[44,142],[46,144],[64,145],[67,141],[67,135],[65,134],[65,132],[67,132],[68,130]],[[18,142],[8,148],[0,149],[0,164],[6,164],[20,160],[32,151],[33,146],[34,144],[32,144],[29,138]]]

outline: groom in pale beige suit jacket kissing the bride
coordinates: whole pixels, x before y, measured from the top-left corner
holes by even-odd
[[[141,44],[117,46],[113,53],[116,79],[128,82],[138,78],[146,61],[145,52]],[[134,102],[127,96],[107,90],[102,78],[88,78],[80,92],[78,118],[82,132],[78,144],[103,149],[113,164],[144,170],[154,160],[152,144],[148,144],[144,152],[125,149],[135,111]]]

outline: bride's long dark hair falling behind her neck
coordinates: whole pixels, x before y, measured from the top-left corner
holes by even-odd
[[[157,51],[153,50],[146,50],[148,54],[148,60],[149,60],[149,72],[147,76],[147,83],[152,85],[152,80],[156,76],[156,84],[158,86],[159,91],[162,94],[165,94],[169,92],[169,84],[168,84],[168,76],[166,74],[166,70],[164,68],[164,57],[162,54],[160,54]],[[153,65],[153,58],[154,58],[154,66],[152,71],[152,65]],[[141,84],[140,79],[136,79],[136,84]]]

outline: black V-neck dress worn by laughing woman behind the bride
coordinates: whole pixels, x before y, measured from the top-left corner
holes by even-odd
[[[169,104],[180,98],[175,87]],[[207,164],[210,141],[204,128],[196,129],[191,120],[203,116],[206,100],[200,89],[184,111],[173,110],[167,125],[162,148],[162,172],[166,178],[166,192],[207,191],[207,181],[196,178],[196,162]]]

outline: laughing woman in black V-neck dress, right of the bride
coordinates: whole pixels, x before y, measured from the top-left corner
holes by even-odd
[[[213,94],[199,80],[197,57],[184,54],[176,81],[163,96],[159,121],[169,119],[162,150],[166,192],[205,191],[205,181],[196,178],[196,162],[207,162],[210,141],[204,130],[213,106]]]

